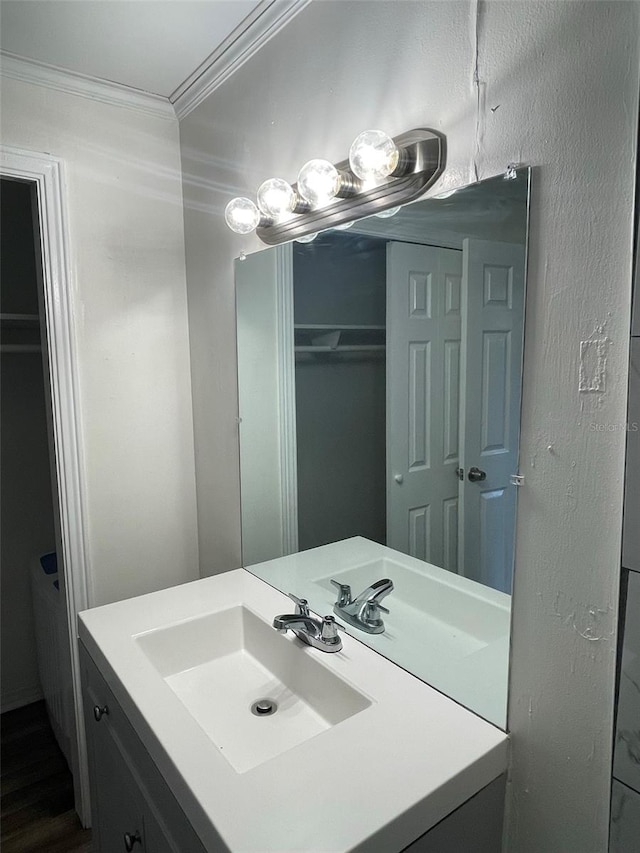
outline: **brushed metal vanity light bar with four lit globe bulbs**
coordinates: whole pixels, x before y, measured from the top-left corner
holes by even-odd
[[[281,178],[261,184],[256,205],[234,198],[225,219],[232,231],[254,229],[264,243],[300,240],[366,216],[393,215],[419,198],[442,174],[443,134],[416,128],[393,139],[381,130],[366,130],[354,140],[349,159],[340,163],[310,160],[293,186]],[[313,238],[311,238],[313,239]]]

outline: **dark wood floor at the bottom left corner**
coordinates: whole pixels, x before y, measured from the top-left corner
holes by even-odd
[[[73,780],[44,702],[9,711],[2,726],[2,853],[90,853],[73,808]]]

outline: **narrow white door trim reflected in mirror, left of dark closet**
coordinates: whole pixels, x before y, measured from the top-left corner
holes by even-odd
[[[276,328],[278,340],[278,419],[280,421],[280,500],[283,556],[298,551],[298,468],[296,376],[293,327],[293,244],[276,246]]]

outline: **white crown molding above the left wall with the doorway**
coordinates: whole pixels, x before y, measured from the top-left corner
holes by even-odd
[[[137,110],[156,118],[176,120],[175,110],[169,99],[161,95],[58,68],[46,62],[25,59],[7,51],[0,51],[0,74],[13,80],[21,80],[23,83],[33,83],[36,86],[79,95],[103,104]]]

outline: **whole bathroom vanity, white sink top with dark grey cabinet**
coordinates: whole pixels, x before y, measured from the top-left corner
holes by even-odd
[[[499,853],[506,735],[352,637],[273,631],[287,606],[236,569],[80,614],[94,853]]]

